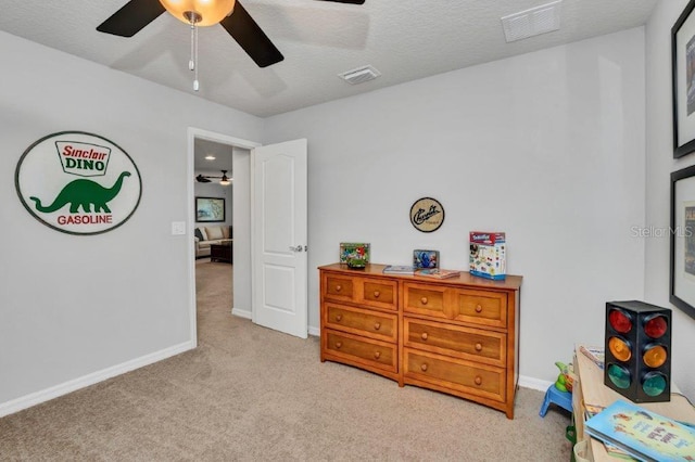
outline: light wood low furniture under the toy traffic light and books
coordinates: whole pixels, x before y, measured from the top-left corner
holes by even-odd
[[[574,350],[574,373],[578,375],[579,381],[574,384],[572,392],[572,410],[578,445],[576,450],[579,452],[580,447],[585,445],[586,450],[583,457],[590,461],[619,461],[620,459],[610,457],[606,452],[603,442],[586,434],[584,428],[584,421],[586,420],[585,405],[606,407],[617,399],[627,400],[627,398],[604,385],[603,369],[583,355],[579,347],[580,345],[577,345]],[[671,400],[669,402],[644,402],[640,403],[640,406],[678,421],[695,422],[695,408],[679,393],[680,390],[671,381]],[[581,459],[578,458],[577,460]]]

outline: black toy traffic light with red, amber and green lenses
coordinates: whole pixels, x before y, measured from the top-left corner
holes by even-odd
[[[671,310],[606,303],[604,383],[633,402],[671,399]]]

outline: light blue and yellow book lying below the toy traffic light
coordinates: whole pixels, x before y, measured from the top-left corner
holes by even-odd
[[[617,400],[585,423],[586,433],[641,461],[695,459],[695,429]]]

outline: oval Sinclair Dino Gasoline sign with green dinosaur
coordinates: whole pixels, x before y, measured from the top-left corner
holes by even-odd
[[[140,172],[117,144],[92,133],[62,131],[31,144],[14,175],[24,207],[71,234],[119,227],[140,203]]]

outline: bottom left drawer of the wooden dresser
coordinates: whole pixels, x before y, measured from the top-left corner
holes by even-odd
[[[326,329],[321,337],[324,351],[359,364],[397,372],[397,345]]]

